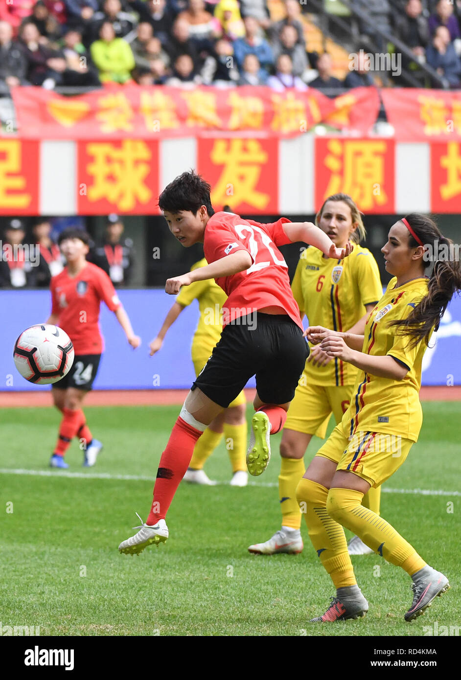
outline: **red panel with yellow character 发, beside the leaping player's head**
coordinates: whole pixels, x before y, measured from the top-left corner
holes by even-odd
[[[199,139],[197,170],[211,184],[214,209],[277,214],[278,156],[277,139]]]

